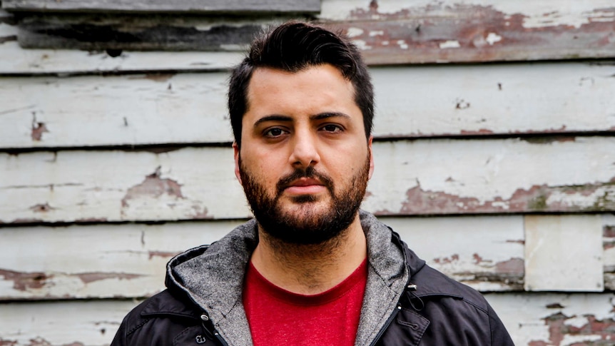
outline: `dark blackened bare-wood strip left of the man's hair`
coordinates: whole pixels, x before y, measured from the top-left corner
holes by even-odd
[[[271,20],[198,19],[185,16],[27,16],[19,22],[19,45],[87,51],[245,51]]]

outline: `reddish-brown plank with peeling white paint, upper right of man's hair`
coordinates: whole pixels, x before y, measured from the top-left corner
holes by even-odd
[[[517,61],[615,56],[611,0],[323,1],[372,64]]]

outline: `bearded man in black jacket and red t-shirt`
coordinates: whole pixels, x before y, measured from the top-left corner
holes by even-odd
[[[173,258],[112,345],[513,345],[482,295],[359,210],[373,92],[347,38],[278,26],[234,68],[228,106],[255,220]]]

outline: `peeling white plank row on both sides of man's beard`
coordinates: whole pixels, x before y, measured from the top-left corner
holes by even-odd
[[[363,206],[378,215],[615,210],[615,137],[377,142],[373,152]],[[0,160],[1,223],[250,215],[230,147]]]

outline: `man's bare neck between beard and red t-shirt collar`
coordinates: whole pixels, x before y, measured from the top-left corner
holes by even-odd
[[[335,238],[317,245],[285,243],[258,229],[259,242],[251,261],[280,288],[315,295],[335,287],[365,260],[367,244],[359,215]]]

